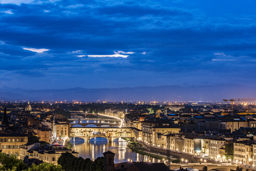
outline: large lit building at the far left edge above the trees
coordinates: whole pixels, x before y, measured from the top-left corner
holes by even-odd
[[[0,147],[5,154],[20,156],[19,146],[28,143],[28,136],[22,133],[0,133]]]

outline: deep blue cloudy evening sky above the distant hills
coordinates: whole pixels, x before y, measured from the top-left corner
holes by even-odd
[[[0,88],[256,83],[256,1],[0,0]]]

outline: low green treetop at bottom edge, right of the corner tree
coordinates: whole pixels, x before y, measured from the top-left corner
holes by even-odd
[[[54,165],[53,163],[41,163],[39,165],[32,164],[27,171],[64,171],[62,166]]]

